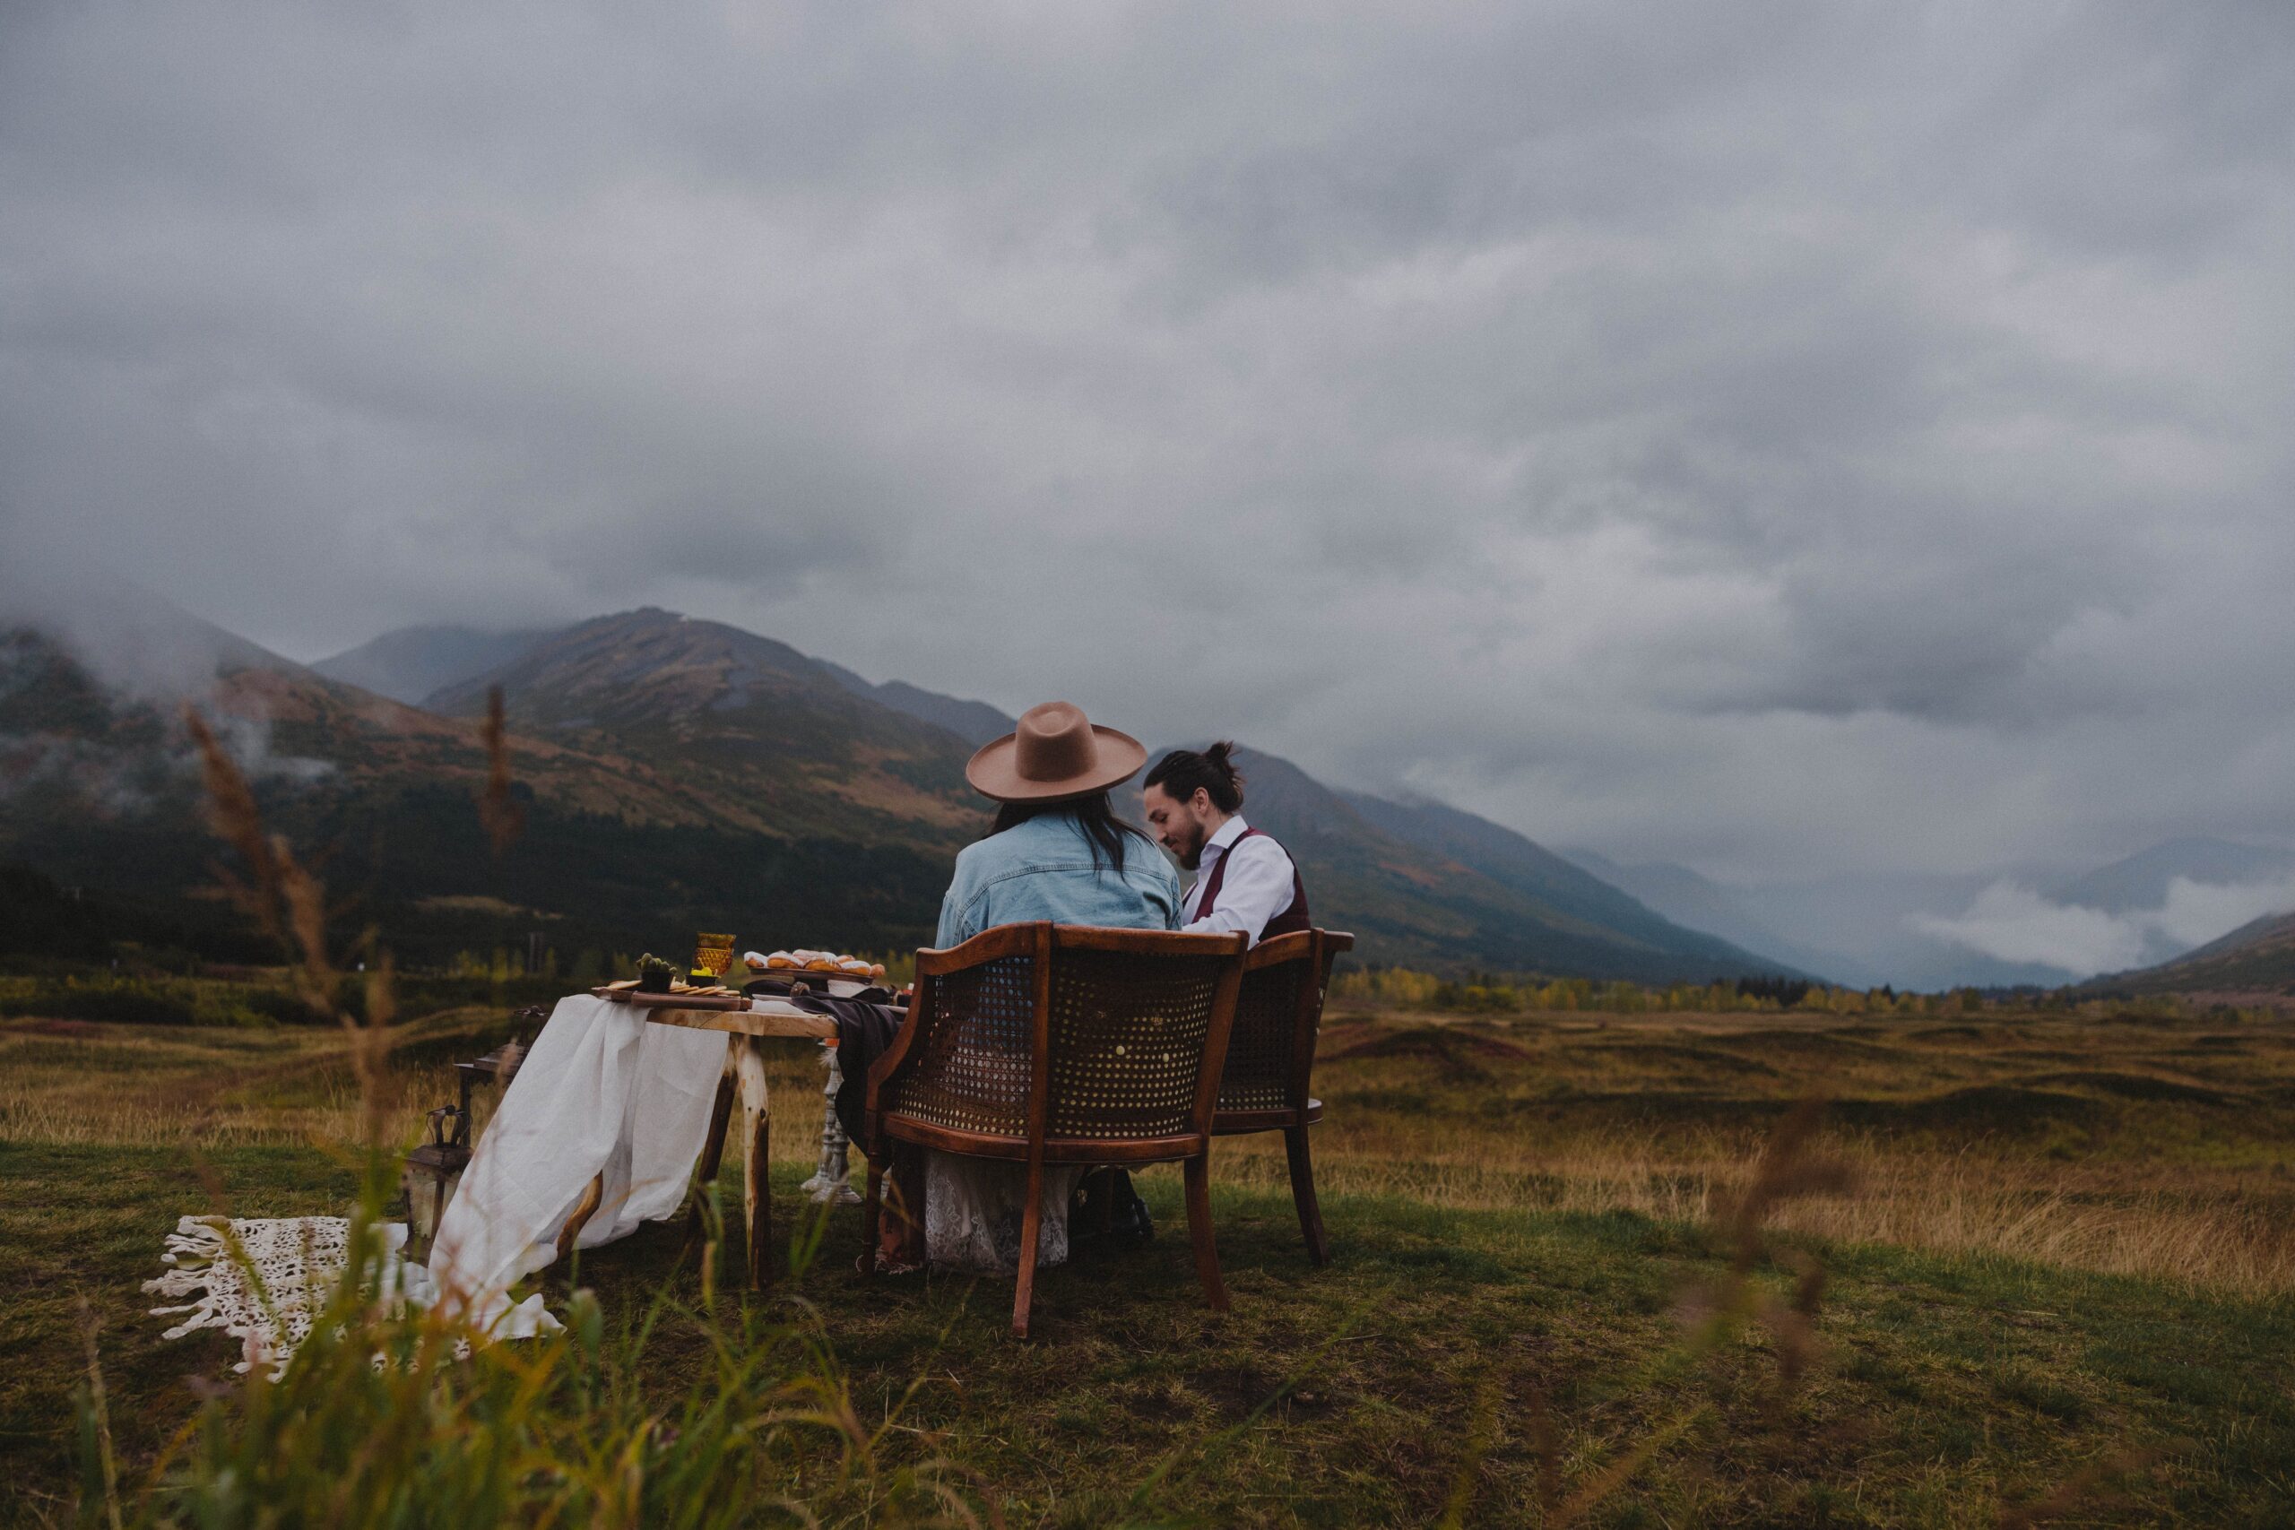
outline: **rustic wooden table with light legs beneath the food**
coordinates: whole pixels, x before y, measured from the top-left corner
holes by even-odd
[[[744,998],[739,993],[638,993],[627,986],[592,989],[615,1005],[643,1005],[645,1018],[654,1025],[677,1025],[679,1030],[723,1030],[725,1071],[718,1076],[716,1108],[709,1113],[709,1138],[702,1142],[700,1181],[716,1184],[718,1163],[725,1156],[725,1131],[732,1126],[732,1106],[741,1103],[741,1186],[744,1211],[748,1213],[748,1285],[762,1289],[773,1275],[773,1181],[771,1181],[771,1106],[764,1094],[764,1044],[776,1039],[822,1041],[838,1035],[838,1023],[826,1014],[812,1014],[778,998]],[[590,1181],[590,1191],[574,1207],[574,1216],[558,1234],[560,1257],[574,1248],[583,1225],[606,1197],[606,1177]],[[693,1220],[700,1223],[700,1202],[693,1202]]]

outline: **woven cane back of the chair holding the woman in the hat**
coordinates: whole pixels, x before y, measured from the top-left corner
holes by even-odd
[[[1203,1135],[1242,952],[1242,936],[1042,922],[918,952],[872,1110],[1008,1142]]]

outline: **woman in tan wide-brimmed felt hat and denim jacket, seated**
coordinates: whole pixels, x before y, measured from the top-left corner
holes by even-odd
[[[1001,807],[989,837],[957,853],[934,945],[946,950],[982,929],[1030,920],[1177,929],[1180,874],[1108,805],[1108,789],[1138,775],[1143,764],[1148,750],[1138,739],[1097,727],[1072,702],[1030,707],[1017,729],[973,755],[964,780]],[[845,1076],[868,1078],[868,1057],[847,1055]],[[929,1259],[1012,1273],[1028,1200],[1026,1170],[902,1149],[907,1145],[893,1149],[893,1181],[909,1191],[911,1209],[913,1191],[925,1191],[925,1225],[886,1216],[879,1269]],[[1067,1259],[1067,1200],[1081,1174],[1081,1168],[1044,1172],[1037,1264]],[[893,1200],[888,1209],[900,1204]]]

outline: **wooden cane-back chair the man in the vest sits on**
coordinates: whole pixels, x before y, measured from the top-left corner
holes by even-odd
[[[1251,950],[1228,1037],[1228,1067],[1219,1080],[1219,1110],[1212,1115],[1212,1135],[1219,1138],[1283,1133],[1292,1204],[1315,1264],[1331,1262],[1331,1246],[1322,1234],[1315,1161],[1306,1145],[1306,1129],[1322,1119],[1322,1101],[1308,1094],[1308,1085],[1331,961],[1345,950],[1354,950],[1354,936],[1331,929],[1301,929]]]

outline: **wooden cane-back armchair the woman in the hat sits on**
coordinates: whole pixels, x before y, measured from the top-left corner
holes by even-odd
[[[1184,1163],[1196,1275],[1226,1312],[1209,1149],[1244,936],[1003,924],[916,954],[909,1021],[868,1080],[861,1269],[877,1264],[893,1140],[1028,1165],[1012,1333],[1035,1298],[1044,1165]],[[923,1186],[909,1186],[916,1195]]]

